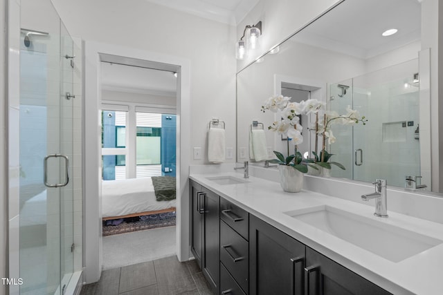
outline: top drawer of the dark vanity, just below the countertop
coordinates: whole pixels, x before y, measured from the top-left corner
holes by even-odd
[[[247,211],[244,211],[224,198],[220,198],[220,219],[237,231],[243,238],[249,240],[249,218]]]

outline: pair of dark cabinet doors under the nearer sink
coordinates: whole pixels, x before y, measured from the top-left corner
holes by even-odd
[[[390,294],[263,220],[249,222],[251,294]]]

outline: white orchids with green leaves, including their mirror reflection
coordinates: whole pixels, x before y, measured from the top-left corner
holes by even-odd
[[[292,144],[294,145],[298,145],[303,142],[303,137],[301,134],[302,126],[300,124],[300,118],[298,116],[309,114],[316,115],[316,122],[314,123],[314,126],[309,129],[311,131],[315,131],[316,133],[315,151],[312,151],[312,153],[314,154],[314,158],[305,160],[305,163],[298,162],[296,163],[297,165],[316,163],[326,169],[331,169],[331,164],[335,164],[341,169],[345,169],[345,167],[338,162],[328,162],[333,154],[326,151],[326,140],[328,144],[333,144],[336,141],[336,137],[334,137],[331,127],[334,124],[352,125],[362,123],[363,125],[365,125],[365,122],[367,122],[368,120],[365,120],[364,116],[360,117],[359,112],[351,109],[350,106],[347,106],[347,113],[345,115],[338,115],[338,113],[336,113],[335,111],[323,111],[323,120],[319,120],[319,113],[321,110],[325,110],[325,108],[326,104],[324,102],[318,101],[317,99],[307,99],[303,100],[302,102],[291,102],[291,97],[284,97],[283,95],[273,95],[266,99],[266,101],[262,105],[263,112],[269,110],[273,113],[277,113],[278,117],[280,117],[280,120],[273,122],[273,124],[269,126],[268,129],[271,131],[275,131],[278,134],[287,136],[288,139],[291,139],[290,142],[292,142]],[[321,135],[323,139],[320,154],[318,154],[319,135]],[[281,153],[275,151],[274,153],[275,155],[281,155]],[[290,157],[291,156],[289,156],[288,158]],[[281,155],[281,157],[278,156],[278,160],[275,160],[275,162],[286,163],[287,159],[282,160]],[[315,166],[309,166],[317,169]],[[305,171],[305,169],[302,170]]]

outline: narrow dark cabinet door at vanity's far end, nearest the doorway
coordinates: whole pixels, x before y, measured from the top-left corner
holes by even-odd
[[[203,204],[202,187],[196,182],[190,181],[190,242],[191,251],[201,269],[203,255]]]

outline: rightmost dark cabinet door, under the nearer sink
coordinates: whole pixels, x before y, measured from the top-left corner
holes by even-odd
[[[308,295],[390,294],[309,247],[306,247],[305,286]]]

